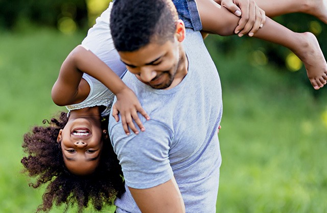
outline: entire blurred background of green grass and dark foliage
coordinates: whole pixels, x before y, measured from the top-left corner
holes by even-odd
[[[22,137],[65,111],[52,102],[52,85],[108,3],[0,0],[0,212],[33,212],[41,203],[44,188],[30,188],[33,179],[21,173]],[[327,55],[326,24],[305,14],[275,20],[313,32]],[[205,42],[224,101],[217,212],[327,212],[327,88],[315,91],[284,47],[237,36]]]

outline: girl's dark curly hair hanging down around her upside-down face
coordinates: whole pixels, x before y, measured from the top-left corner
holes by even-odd
[[[36,178],[30,186],[38,188],[49,182],[37,212],[49,211],[53,204],[59,206],[63,203],[66,210],[75,203],[79,212],[88,203],[101,210],[104,205],[112,205],[114,199],[125,192],[123,173],[109,139],[103,139],[100,164],[94,173],[78,176],[66,169],[57,137],[67,121],[67,113],[62,112],[59,119],[43,120],[43,124],[49,125],[35,126],[24,136],[22,147],[27,156],[21,159],[21,164],[29,176]],[[102,126],[103,129],[108,127],[108,118],[102,120]]]

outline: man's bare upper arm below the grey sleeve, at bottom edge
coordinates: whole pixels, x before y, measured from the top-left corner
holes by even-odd
[[[183,213],[185,206],[175,178],[149,189],[129,187],[138,208],[143,213]]]

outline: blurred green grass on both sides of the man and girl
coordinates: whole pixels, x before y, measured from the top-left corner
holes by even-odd
[[[0,34],[0,212],[33,212],[41,203],[44,188],[28,187],[33,179],[21,173],[22,137],[64,110],[52,102],[51,88],[83,36]],[[251,66],[245,47],[224,56],[210,41],[224,101],[217,212],[327,212],[325,96],[314,98],[296,73]]]

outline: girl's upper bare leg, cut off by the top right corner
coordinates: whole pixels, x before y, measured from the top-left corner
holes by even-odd
[[[268,17],[288,13],[306,13],[327,24],[327,0],[255,0]]]

